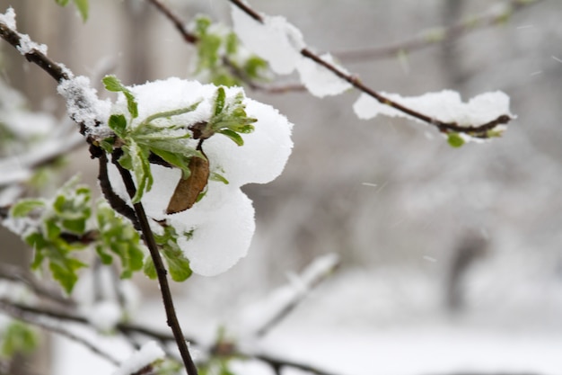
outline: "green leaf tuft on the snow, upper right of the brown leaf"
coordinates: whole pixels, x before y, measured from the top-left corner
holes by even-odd
[[[226,98],[224,87],[219,87],[215,95],[215,107],[211,119],[206,123],[205,129],[199,138],[209,138],[215,133],[231,138],[238,146],[244,144],[240,134],[251,133],[252,125],[257,119],[248,117],[246,105],[242,103],[244,95],[240,92],[230,100]]]

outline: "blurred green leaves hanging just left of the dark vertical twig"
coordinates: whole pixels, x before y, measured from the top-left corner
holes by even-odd
[[[96,219],[100,235],[95,250],[101,262],[110,264],[113,257],[108,251],[119,256],[121,260],[121,278],[130,278],[134,272],[143,268],[144,252],[140,236],[127,219],[115,214],[105,201],[98,201]]]

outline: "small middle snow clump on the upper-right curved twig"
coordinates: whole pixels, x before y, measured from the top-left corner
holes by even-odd
[[[327,53],[321,58],[331,65],[338,67],[339,70],[348,74],[347,70],[339,67],[334,58]],[[306,89],[314,96],[320,98],[327,95],[338,95],[351,87],[349,83],[330,72],[326,67],[322,67],[310,58],[300,58],[296,69],[301,76],[301,82]]]

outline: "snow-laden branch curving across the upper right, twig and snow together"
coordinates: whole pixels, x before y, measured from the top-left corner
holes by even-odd
[[[381,94],[364,85],[356,76],[349,74],[343,67],[334,64],[329,55],[319,56],[313,52],[305,45],[300,31],[294,25],[286,22],[283,17],[263,15],[240,0],[230,1],[233,4],[234,30],[241,40],[258,55],[266,58],[278,74],[290,73],[294,69],[299,71],[303,84],[311,94],[317,96],[339,94],[347,87],[353,86],[363,93],[362,96],[366,95],[372,98],[373,103],[391,107],[394,110],[391,112],[392,115],[401,112],[404,116],[435,126],[444,134],[461,133],[466,136],[465,140],[497,137],[505,129],[503,125],[514,118],[509,110],[502,106],[493,111],[496,117],[487,119],[485,122],[470,122],[467,121],[469,119],[465,110],[469,108],[477,112],[490,113],[491,111],[488,111],[487,107],[485,110],[474,108],[477,103],[486,103],[487,105],[488,101],[475,101],[469,107],[464,107],[462,111],[454,112],[452,108],[443,108],[443,103],[439,102],[441,99],[439,95],[430,95],[425,100],[426,102],[436,100],[431,106],[440,105],[443,108],[442,111],[447,113],[445,116],[437,115],[435,112],[423,112],[421,107],[419,107],[420,110],[417,107],[410,107],[407,103],[400,102],[391,95]],[[303,61],[312,61],[317,65],[317,70],[303,68],[303,66],[306,67]],[[504,95],[500,96],[503,97]],[[497,102],[503,104],[505,100]],[[361,99],[360,103],[365,103],[364,99]],[[361,107],[363,108],[363,106]],[[456,105],[455,108],[458,109],[460,106]],[[367,111],[364,110],[364,112]],[[380,110],[373,110],[373,112],[389,113]],[[366,118],[367,116],[362,117]],[[480,120],[479,116],[475,117],[477,118],[470,120]],[[442,118],[446,120],[442,120]]]

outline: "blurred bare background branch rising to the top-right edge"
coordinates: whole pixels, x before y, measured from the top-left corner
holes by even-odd
[[[435,27],[421,31],[407,40],[390,45],[334,52],[334,55],[346,62],[396,58],[399,54],[408,54],[419,49],[426,49],[437,43],[457,40],[472,31],[500,25],[513,13],[529,5],[540,3],[540,1],[542,0],[509,0],[505,4],[494,4],[484,13],[465,17],[460,22],[454,23],[449,27]]]

